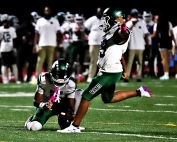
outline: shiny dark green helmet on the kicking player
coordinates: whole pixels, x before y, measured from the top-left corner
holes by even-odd
[[[108,32],[113,26],[117,24],[116,19],[125,15],[119,8],[106,8],[103,12],[102,21],[103,23],[99,26],[100,30]]]

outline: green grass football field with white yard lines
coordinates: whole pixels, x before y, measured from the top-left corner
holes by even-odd
[[[153,98],[131,98],[115,104],[103,104],[95,98],[85,116],[83,133],[61,134],[57,117],[41,131],[27,131],[24,123],[32,106],[34,85],[0,84],[0,142],[171,142],[177,141],[177,80],[145,79],[117,84],[119,90],[146,85]],[[87,84],[78,84],[85,88]]]

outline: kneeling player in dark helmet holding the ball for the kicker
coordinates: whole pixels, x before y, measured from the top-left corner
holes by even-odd
[[[61,129],[71,124],[81,100],[82,90],[76,88],[75,80],[69,77],[69,74],[69,64],[64,60],[57,60],[50,72],[39,75],[34,96],[36,112],[26,121],[27,130],[41,130],[54,115],[58,115]]]

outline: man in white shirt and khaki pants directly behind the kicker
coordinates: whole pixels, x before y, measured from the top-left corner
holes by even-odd
[[[99,55],[99,50],[101,47],[101,40],[104,34],[103,31],[99,30],[99,25],[101,25],[101,17],[103,15],[102,8],[97,8],[96,15],[87,19],[84,23],[85,32],[88,34],[88,44],[89,44],[89,55],[90,55],[90,65],[87,82],[90,83],[92,78],[96,75],[97,71],[97,60]]]

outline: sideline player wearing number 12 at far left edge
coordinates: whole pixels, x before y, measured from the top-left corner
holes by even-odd
[[[2,26],[0,27],[0,52],[2,56],[2,79],[3,83],[8,83],[7,68],[11,67],[16,83],[18,82],[18,69],[16,65],[16,31],[10,26],[9,16],[1,16]]]

